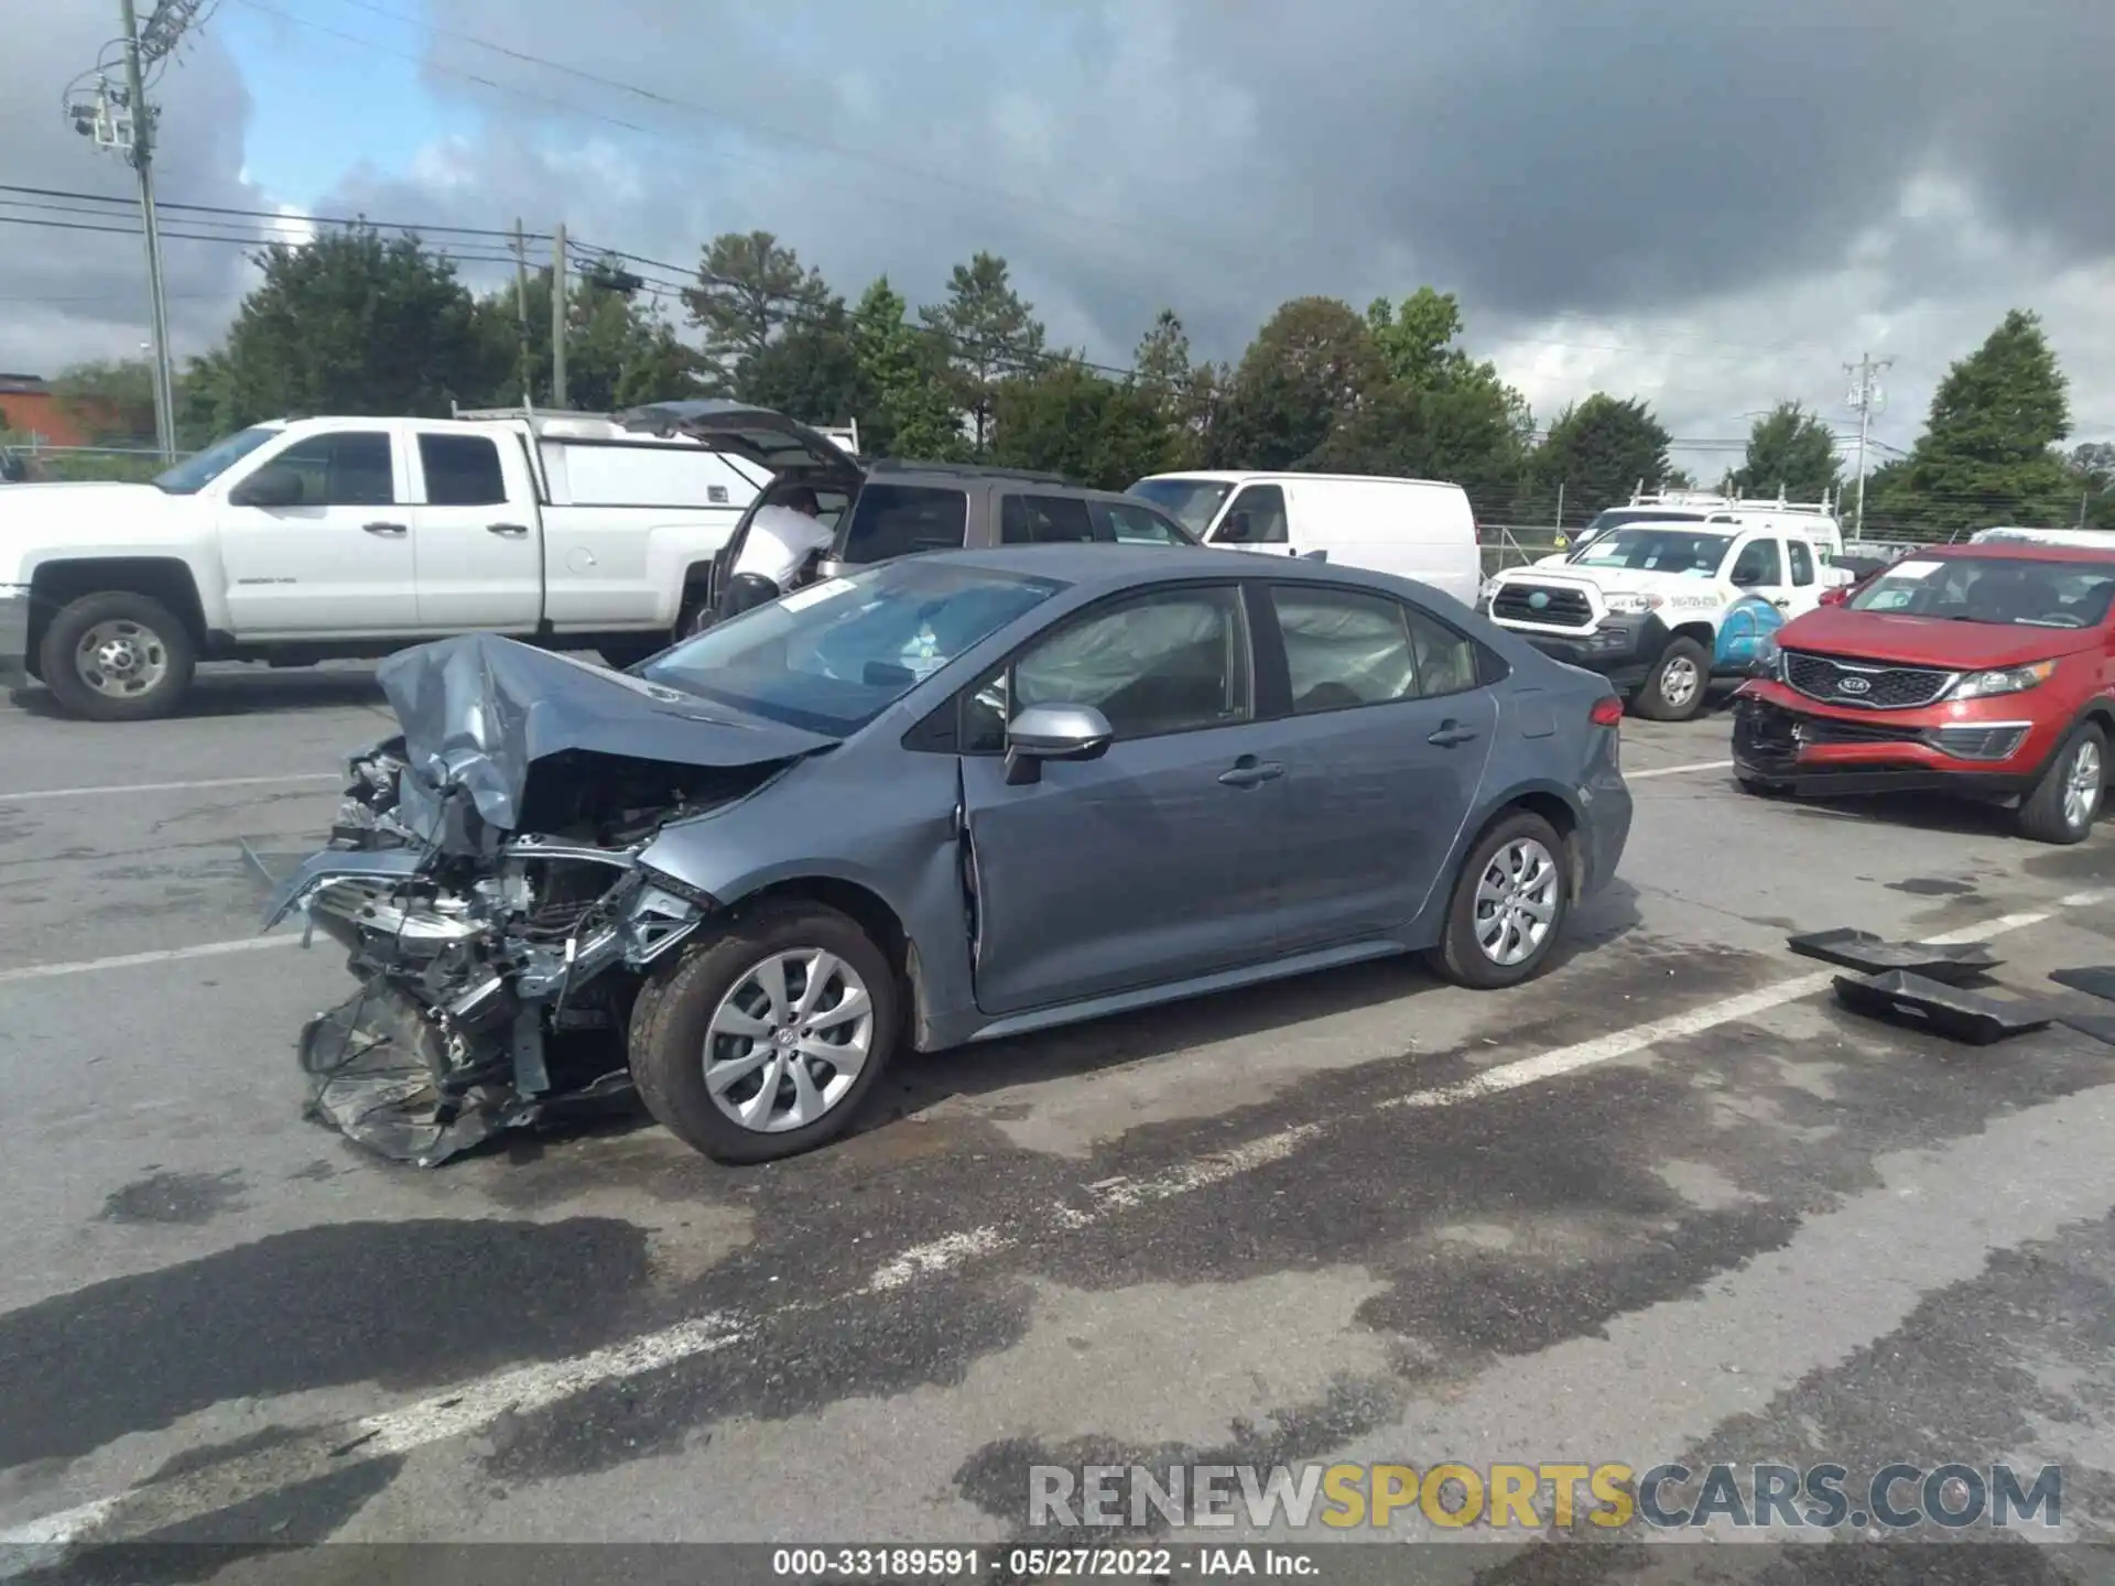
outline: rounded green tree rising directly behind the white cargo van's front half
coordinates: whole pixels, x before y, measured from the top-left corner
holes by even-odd
[[[1263,321],[1212,414],[1214,467],[1311,467],[1385,381],[1373,332],[1337,298],[1292,298]]]

